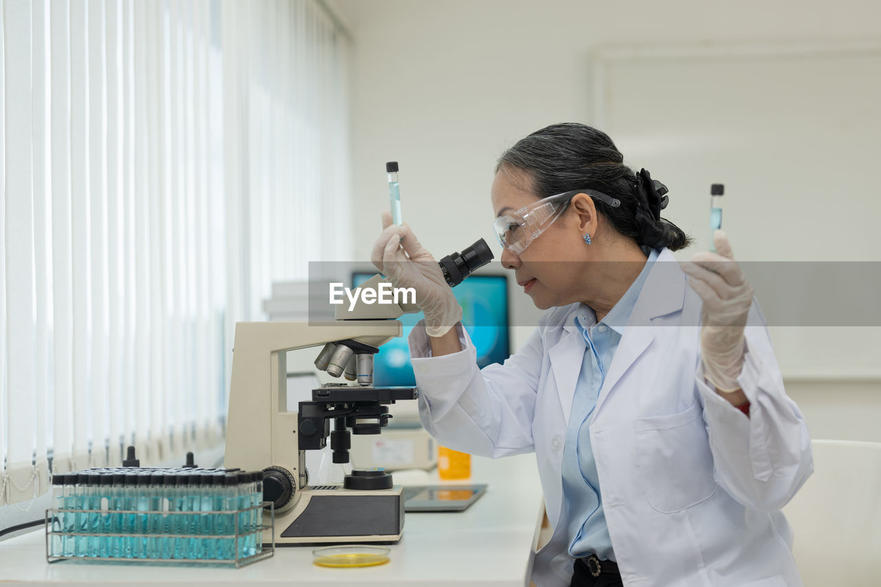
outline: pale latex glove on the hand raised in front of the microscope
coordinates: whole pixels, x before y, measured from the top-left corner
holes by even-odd
[[[393,286],[416,290],[416,305],[426,315],[426,333],[443,336],[462,320],[462,307],[443,278],[441,266],[419,244],[409,225],[391,223],[389,212],[382,213],[382,228],[370,261]]]

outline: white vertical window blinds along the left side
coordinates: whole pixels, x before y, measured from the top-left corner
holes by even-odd
[[[234,323],[348,241],[315,0],[0,0],[0,505],[216,444]],[[331,230],[332,227],[332,230]]]

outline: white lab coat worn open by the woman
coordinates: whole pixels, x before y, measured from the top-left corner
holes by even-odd
[[[707,386],[701,303],[663,249],[597,398],[590,440],[621,576],[629,587],[801,585],[780,509],[813,471],[808,429],[755,301],[738,378],[751,417]],[[535,451],[554,527],[537,587],[572,576],[561,461],[584,352],[576,308],[552,308],[504,365],[483,370],[461,326],[461,353],[430,357],[424,327],[410,337],[429,433],[484,457]]]

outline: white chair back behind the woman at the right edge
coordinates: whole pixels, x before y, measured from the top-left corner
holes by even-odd
[[[814,473],[783,508],[804,585],[881,585],[881,442],[812,446]]]

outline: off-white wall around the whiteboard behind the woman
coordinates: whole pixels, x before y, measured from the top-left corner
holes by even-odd
[[[870,0],[773,5],[335,0],[333,5],[354,37],[356,258],[367,256],[380,213],[388,208],[387,160],[400,161],[403,217],[435,256],[478,237],[498,254],[489,230],[495,161],[507,146],[547,124],[593,122],[589,68],[597,48],[881,37],[881,4]],[[671,202],[675,206],[676,198]],[[529,305],[520,292],[514,297],[515,311]],[[528,332],[515,332],[515,346]],[[792,380],[788,392],[814,437],[881,441],[881,429],[867,415],[881,414],[876,379]]]

